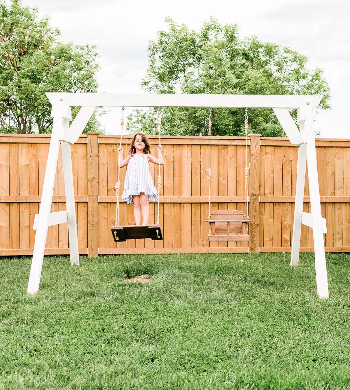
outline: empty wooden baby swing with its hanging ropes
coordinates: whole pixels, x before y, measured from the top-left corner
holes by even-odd
[[[240,210],[210,210],[210,185],[211,185],[211,108],[208,124],[209,135],[209,168],[204,172],[208,172],[209,194],[208,194],[208,219],[209,222],[209,241],[249,241],[248,223],[249,220],[249,204],[248,204],[248,180],[249,166],[248,164],[248,109],[245,108],[245,211]]]

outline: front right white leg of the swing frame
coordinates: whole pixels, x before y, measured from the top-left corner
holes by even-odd
[[[317,294],[321,299],[329,298],[328,279],[326,267],[326,254],[323,240],[321,199],[319,193],[319,182],[317,172],[316,144],[314,133],[314,118],[312,106],[305,106],[305,131],[306,131],[306,153],[309,177],[309,193],[311,203],[311,215],[313,224],[313,239],[315,250],[315,270]]]

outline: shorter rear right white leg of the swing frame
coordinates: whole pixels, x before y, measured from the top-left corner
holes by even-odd
[[[301,241],[301,220],[304,206],[306,172],[306,143],[302,143],[298,150],[297,162],[297,184],[294,204],[294,222],[292,235],[291,266],[299,265],[300,241]]]

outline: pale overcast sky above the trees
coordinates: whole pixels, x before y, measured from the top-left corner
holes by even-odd
[[[321,111],[322,137],[350,138],[350,2],[347,0],[23,0],[48,15],[62,41],[94,44],[100,55],[100,92],[142,93],[147,45],[165,28],[164,18],[199,29],[214,16],[237,23],[242,38],[287,46],[320,67],[331,88],[332,109]],[[118,133],[120,109],[103,119],[106,133]]]

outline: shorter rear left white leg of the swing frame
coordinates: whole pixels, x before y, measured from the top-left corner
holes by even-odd
[[[65,183],[68,237],[70,247],[70,264],[79,266],[78,234],[75,217],[75,199],[73,184],[73,169],[71,163],[70,143],[62,141],[63,176]]]

